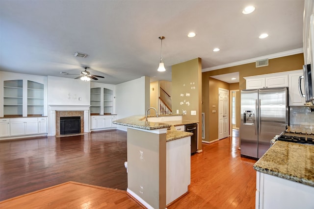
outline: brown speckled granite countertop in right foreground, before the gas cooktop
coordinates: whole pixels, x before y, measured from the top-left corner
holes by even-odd
[[[253,167],[262,173],[314,186],[314,145],[276,141]]]

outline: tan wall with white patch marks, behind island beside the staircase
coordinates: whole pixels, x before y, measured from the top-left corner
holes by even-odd
[[[196,58],[172,66],[172,111],[182,114],[185,120],[198,124],[198,150],[202,149],[202,60]],[[196,116],[191,111],[196,111]]]

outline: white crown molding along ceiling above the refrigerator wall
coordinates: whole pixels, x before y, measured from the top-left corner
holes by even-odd
[[[211,71],[211,70],[218,70],[218,69],[223,69],[223,68],[229,68],[229,67],[233,67],[233,66],[237,66],[237,65],[244,65],[244,64],[248,64],[248,63],[254,63],[257,60],[262,60],[262,59],[267,59],[267,58],[268,59],[274,59],[274,58],[278,58],[278,57],[285,57],[285,56],[290,56],[290,55],[300,54],[300,53],[303,53],[303,48],[292,49],[289,51],[279,52],[279,53],[275,53],[275,54],[269,54],[269,55],[262,56],[262,57],[256,57],[256,58],[237,61],[237,62],[228,63],[228,64],[224,64],[224,65],[218,65],[218,66],[214,66],[214,67],[210,67],[210,68],[205,68],[205,69],[202,69],[202,72],[207,72],[207,71]]]

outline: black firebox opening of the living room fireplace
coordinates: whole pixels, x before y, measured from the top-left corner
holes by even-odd
[[[60,117],[60,135],[79,133],[80,116]]]

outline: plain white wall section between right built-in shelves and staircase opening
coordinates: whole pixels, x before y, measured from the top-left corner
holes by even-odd
[[[142,76],[116,86],[116,113],[118,118],[145,115],[150,105],[150,78]],[[125,126],[117,126],[127,130]]]

